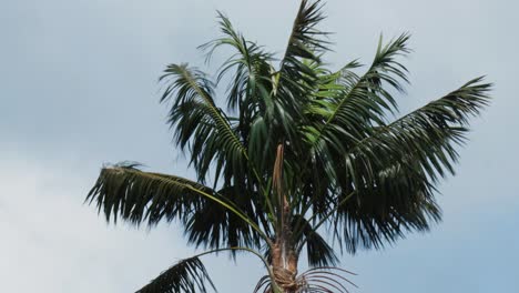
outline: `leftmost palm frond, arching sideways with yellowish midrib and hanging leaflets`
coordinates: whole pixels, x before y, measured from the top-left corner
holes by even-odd
[[[134,164],[102,169],[85,201],[89,203],[95,201],[99,211],[104,212],[108,221],[111,218],[116,221],[118,215],[138,225],[144,221],[153,225],[162,219],[180,220],[187,232],[193,214],[203,206],[215,211],[224,210],[227,214],[233,214],[233,219],[244,221],[248,229],[254,230],[254,233],[247,230],[245,236],[253,240],[267,239],[256,224],[254,214],[250,218],[231,199],[194,181],[174,175],[143,172]],[[236,229],[236,225],[234,228]],[[226,226],[226,229],[232,229],[232,226]],[[235,230],[231,233],[241,235],[245,233],[244,231]],[[214,240],[199,238],[199,242],[202,241],[212,243]]]

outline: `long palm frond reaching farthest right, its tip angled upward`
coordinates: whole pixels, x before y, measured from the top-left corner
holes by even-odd
[[[374,128],[374,132],[356,142],[346,155],[366,155],[373,162],[419,162],[421,170],[436,181],[438,175],[454,173],[456,145],[466,141],[468,119],[488,105],[491,84],[474,79],[395,122]],[[385,156],[381,156],[385,154]],[[374,155],[379,159],[374,160]],[[386,164],[386,166],[391,164]]]

